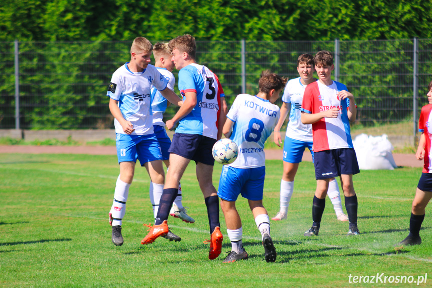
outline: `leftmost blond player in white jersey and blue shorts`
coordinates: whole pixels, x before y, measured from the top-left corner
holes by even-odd
[[[161,190],[165,173],[161,148],[153,132],[150,108],[151,85],[161,91],[171,103],[181,105],[180,98],[169,87],[168,80],[150,63],[153,46],[144,37],[137,37],[131,46],[131,60],[118,68],[111,78],[107,96],[116,128],[117,158],[120,175],[109,213],[114,245],[123,244],[122,219],[126,212],[129,187],[138,155],[152,181],[150,190]],[[168,87],[168,89],[166,89]]]

